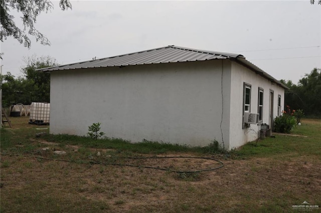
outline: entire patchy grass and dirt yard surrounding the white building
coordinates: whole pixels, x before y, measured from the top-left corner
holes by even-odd
[[[303,119],[292,132],[307,137],[275,135],[220,153],[50,135],[28,117],[11,119],[14,127],[1,129],[1,212],[296,212],[303,201],[321,211],[321,120]],[[156,156],[171,158],[148,158]],[[220,166],[174,156],[224,166],[171,172]]]

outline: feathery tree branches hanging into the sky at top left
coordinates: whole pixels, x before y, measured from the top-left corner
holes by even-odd
[[[0,40],[2,42],[8,36],[13,36],[24,46],[30,48],[31,40],[28,36],[32,35],[41,44],[50,45],[48,38],[35,27],[38,15],[42,11],[47,13],[54,8],[50,0],[1,0],[0,2]],[[59,5],[62,10],[71,9],[69,0],[60,0]],[[22,13],[24,29],[16,25],[13,20],[15,17],[9,13],[11,10]]]

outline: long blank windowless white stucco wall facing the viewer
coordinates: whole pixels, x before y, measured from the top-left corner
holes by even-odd
[[[132,142],[207,145],[223,134],[228,147],[230,127],[239,128],[230,124],[237,113],[230,107],[238,105],[230,88],[229,60],[53,71],[50,132],[86,135],[101,122],[108,137]]]

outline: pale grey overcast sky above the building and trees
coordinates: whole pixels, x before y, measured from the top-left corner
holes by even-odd
[[[317,1],[317,0],[315,0]],[[75,1],[55,8],[36,27],[51,41],[30,49],[1,43],[3,74],[22,75],[24,57],[49,55],[60,64],[178,45],[243,54],[276,79],[293,83],[321,68],[321,5],[303,1]],[[13,12],[21,24],[20,14]]]

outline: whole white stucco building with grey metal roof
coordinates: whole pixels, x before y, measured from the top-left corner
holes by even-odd
[[[283,109],[284,86],[243,55],[165,46],[40,69],[51,73],[50,133],[226,149],[258,137]],[[259,123],[244,124],[244,113]]]

